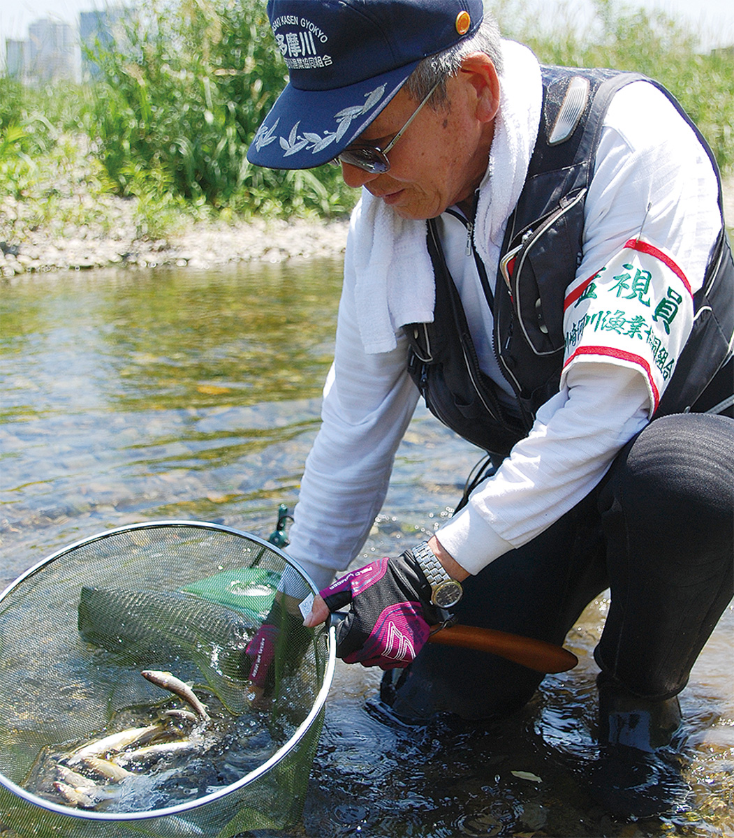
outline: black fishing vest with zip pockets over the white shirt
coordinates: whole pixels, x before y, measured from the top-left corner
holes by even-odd
[[[436,226],[427,246],[436,276],[433,323],[411,323],[408,371],[426,406],[448,427],[497,457],[526,436],[538,408],[554,396],[564,358],[563,303],[582,259],[584,203],[607,106],[642,75],[614,70],[542,67],[543,110],[525,186],[509,217],[494,293],[474,253],[494,316],[494,353],[512,385],[516,406],[479,368],[462,303],[448,272]],[[662,91],[693,127],[718,176],[713,154],[675,98]],[[719,206],[721,208],[721,178]],[[731,396],[734,263],[722,223],[706,281],[694,297],[695,321],[655,416],[707,410],[711,385]],[[730,361],[724,365],[727,361]],[[716,375],[720,372],[720,375]],[[712,384],[716,376],[716,386]],[[721,396],[723,398],[724,396]]]

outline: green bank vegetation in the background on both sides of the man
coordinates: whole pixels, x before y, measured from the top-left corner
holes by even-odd
[[[115,49],[93,50],[85,85],[23,88],[0,78],[0,239],[21,225],[80,224],[88,197],[134,197],[141,235],[180,220],[343,215],[356,195],[330,166],[251,167],[246,149],[286,81],[264,0],[143,0]],[[734,169],[731,50],[703,54],[662,13],[595,0],[587,31],[542,28],[517,0],[497,0],[504,34],[541,61],[638,70],[677,96]],[[86,199],[84,199],[86,196]],[[23,210],[21,212],[21,209]]]

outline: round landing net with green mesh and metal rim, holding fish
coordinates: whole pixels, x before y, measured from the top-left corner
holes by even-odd
[[[255,536],[156,522],[59,551],[8,587],[0,832],[227,838],[294,824],[333,649],[274,603],[284,572],[312,589]],[[274,657],[256,689],[246,650],[263,623]]]

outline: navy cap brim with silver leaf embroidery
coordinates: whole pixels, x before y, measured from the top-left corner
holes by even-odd
[[[257,129],[247,159],[266,168],[314,168],[337,157],[395,96],[420,61],[333,91],[287,85]]]

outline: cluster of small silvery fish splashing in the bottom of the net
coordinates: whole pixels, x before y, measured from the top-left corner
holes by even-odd
[[[44,747],[25,788],[78,809],[147,810],[231,784],[276,751],[279,742],[261,714],[232,716],[214,695],[208,699],[210,714],[191,686],[172,673],[142,675],[191,706],[194,721],[175,714],[177,707],[127,708],[121,720],[158,718],[75,747]]]

